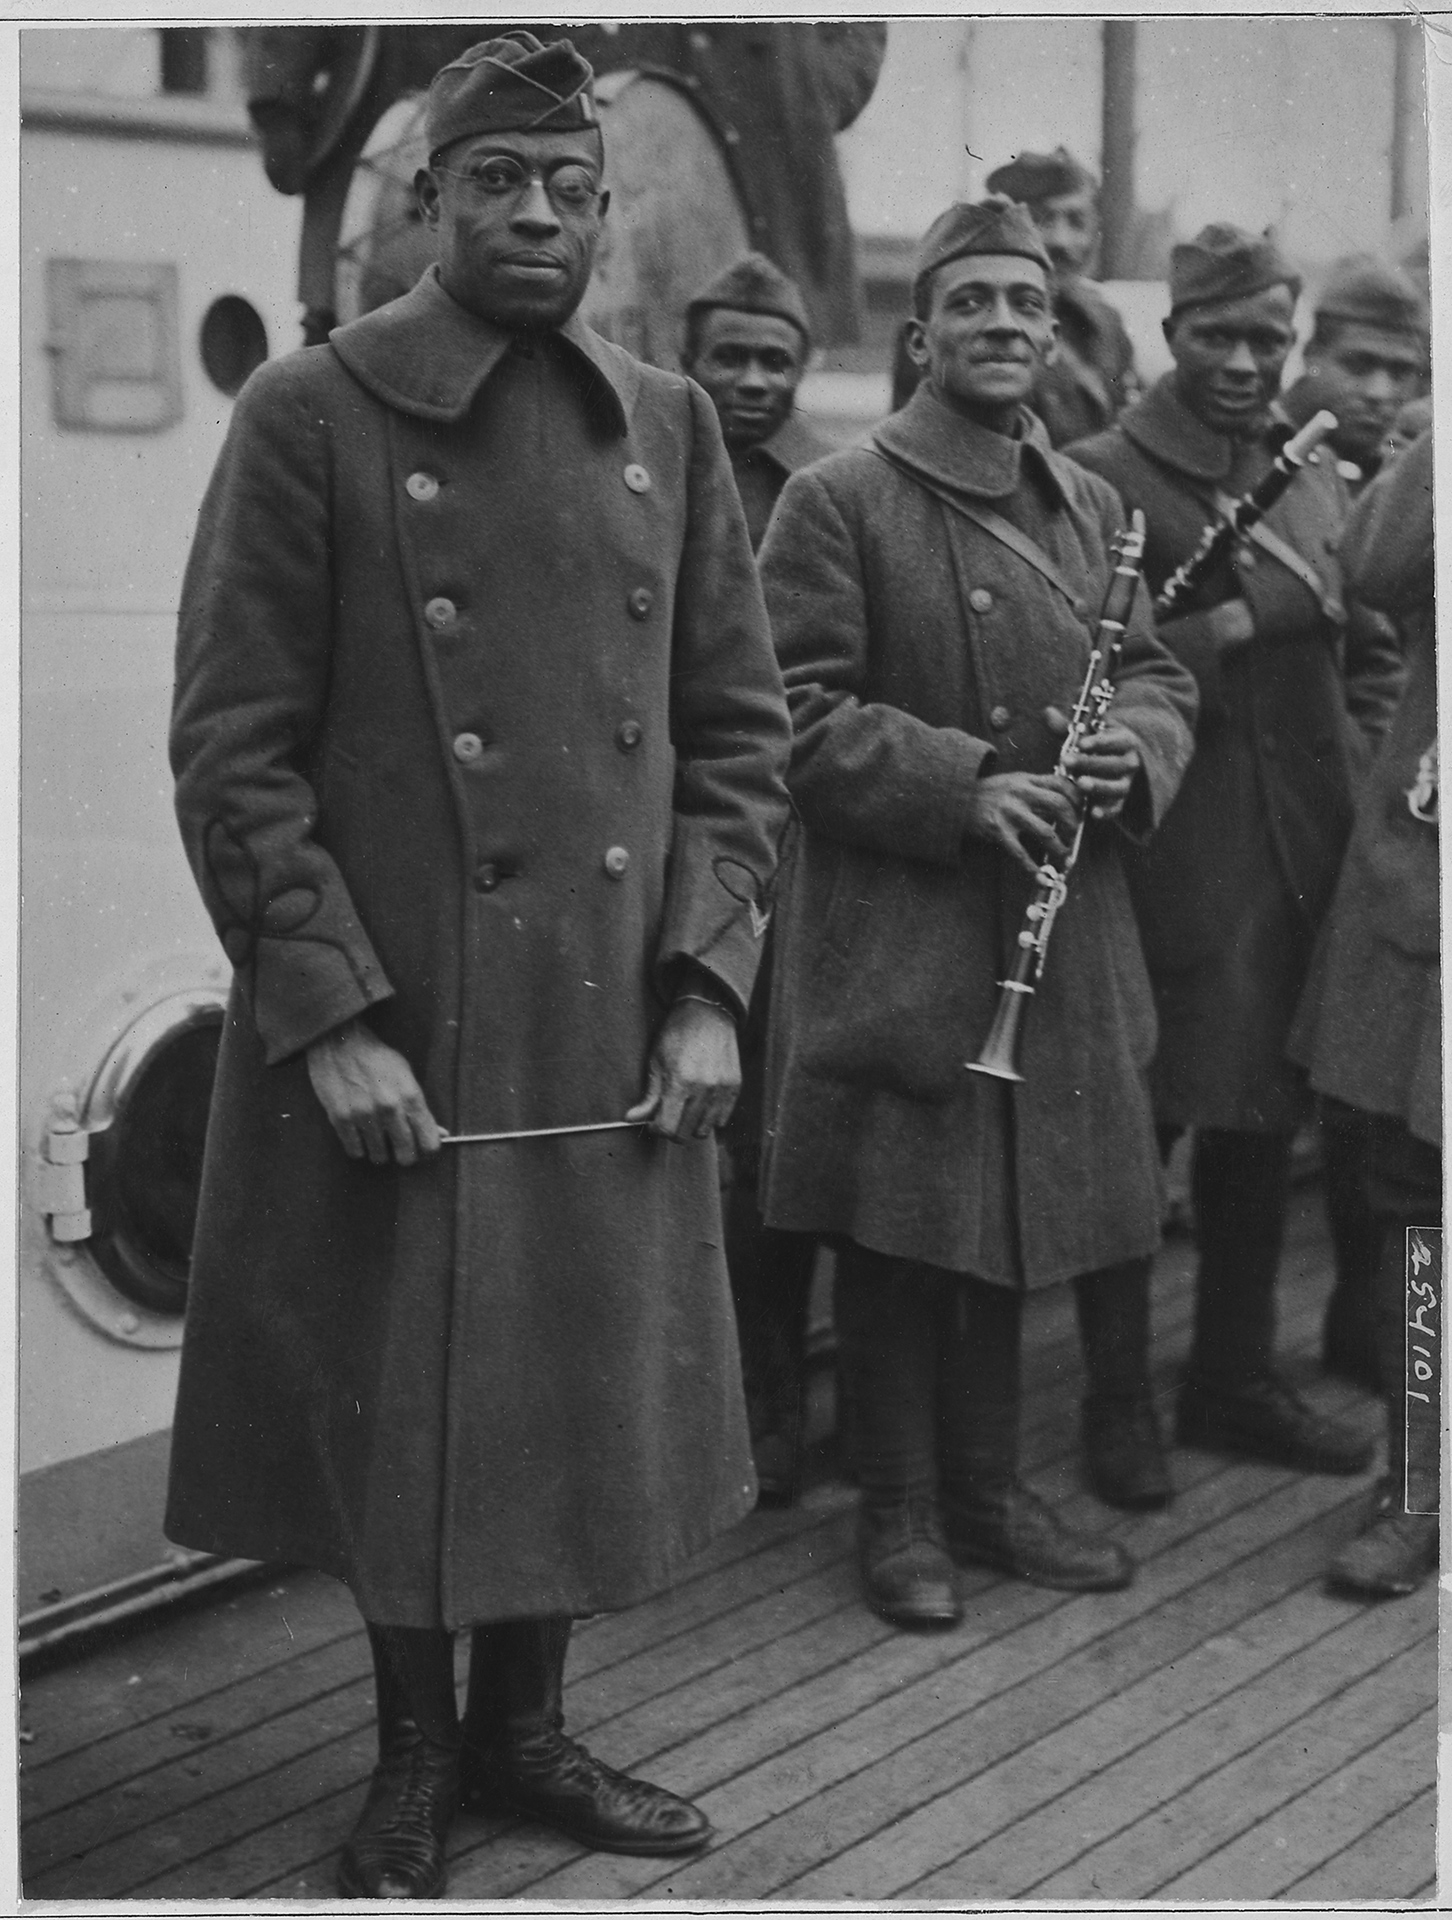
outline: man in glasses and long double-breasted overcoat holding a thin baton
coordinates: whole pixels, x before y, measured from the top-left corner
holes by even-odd
[[[755,1496],[711,1131],[789,730],[711,403],[572,319],[590,79],[524,33],[440,71],[440,265],[250,382],[182,597],[179,816],[236,987],[167,1526],[357,1597],[350,1895],[438,1893],[461,1791],[699,1847],[563,1736],[565,1647]]]

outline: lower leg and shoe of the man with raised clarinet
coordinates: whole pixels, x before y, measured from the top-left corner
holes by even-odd
[[[1195,1139],[1200,1269],[1175,1438],[1302,1473],[1366,1473],[1373,1442],[1318,1413],[1275,1371],[1289,1162],[1289,1135],[1202,1129]]]

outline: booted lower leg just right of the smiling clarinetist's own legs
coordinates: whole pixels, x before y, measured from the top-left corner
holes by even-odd
[[[1150,1386],[1150,1263],[1074,1281],[1087,1392],[1081,1407],[1089,1484],[1110,1507],[1168,1507],[1174,1486]]]

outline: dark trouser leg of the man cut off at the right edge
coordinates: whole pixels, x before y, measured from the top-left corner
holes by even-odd
[[[1406,1482],[1414,1511],[1437,1509],[1439,1434],[1431,1421],[1412,1423],[1406,1438],[1406,1235],[1410,1227],[1442,1225],[1442,1156],[1439,1148],[1391,1116],[1371,1121],[1366,1204],[1381,1227],[1381,1260],[1373,1286],[1377,1365],[1387,1404],[1387,1473],[1402,1498]],[[1439,1371],[1440,1371],[1440,1354]]]

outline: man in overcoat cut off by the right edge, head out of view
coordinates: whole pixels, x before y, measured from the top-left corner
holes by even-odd
[[[1392,614],[1408,678],[1358,795],[1356,826],[1306,989],[1293,1054],[1312,1087],[1369,1135],[1366,1204],[1379,1236],[1375,1334],[1387,1404],[1387,1476],[1331,1584],[1412,1594],[1437,1567],[1437,1390],[1408,1380],[1408,1321],[1433,1304],[1408,1267],[1408,1233],[1442,1225],[1442,947],[1437,745],[1433,436],[1383,467],[1358,499],[1341,559],[1348,586]],[[1435,1319],[1433,1319],[1435,1325]],[[1425,1382],[1423,1375],[1423,1382]],[[1408,1400],[1408,1386],[1421,1394]]]

